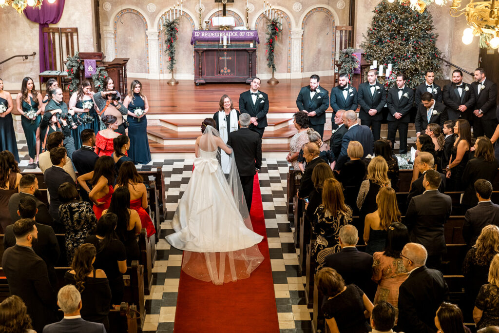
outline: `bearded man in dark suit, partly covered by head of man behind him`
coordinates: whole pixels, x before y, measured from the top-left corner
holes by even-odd
[[[36,196],[40,195],[36,176],[33,174],[23,175],[19,180],[19,190],[19,193],[12,194],[8,200],[8,212],[12,222],[19,220],[19,215],[17,214],[19,201],[22,198],[32,198],[35,201],[36,209],[38,210],[36,213],[36,221],[47,226],[53,226],[54,220],[48,212],[47,205],[36,198]]]

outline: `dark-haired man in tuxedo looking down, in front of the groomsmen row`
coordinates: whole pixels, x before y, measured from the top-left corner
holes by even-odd
[[[423,92],[421,103],[416,107],[418,108],[415,120],[416,136],[421,133],[425,134],[428,124],[439,124],[440,128],[442,128],[444,122],[449,119],[445,105],[433,99],[432,94],[429,92]]]

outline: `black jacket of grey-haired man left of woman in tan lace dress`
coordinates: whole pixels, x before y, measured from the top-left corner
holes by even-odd
[[[376,285],[371,280],[373,257],[360,252],[355,247],[341,249],[324,259],[324,267],[330,267],[338,272],[345,285],[354,284],[370,299],[374,296]]]

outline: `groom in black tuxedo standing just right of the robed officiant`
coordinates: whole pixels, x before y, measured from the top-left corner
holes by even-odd
[[[267,126],[268,95],[258,90],[260,83],[259,78],[253,78],[250,90],[239,95],[239,111],[251,116],[250,130],[258,133],[261,139]]]

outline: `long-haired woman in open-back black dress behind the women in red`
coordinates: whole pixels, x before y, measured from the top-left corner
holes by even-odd
[[[130,192],[128,188],[124,186],[116,188],[111,197],[109,208],[102,213],[114,213],[118,217],[115,232],[118,239],[125,245],[126,264],[130,266],[132,261],[139,260],[140,257],[137,235],[140,234],[142,225],[139,214],[130,209]]]

